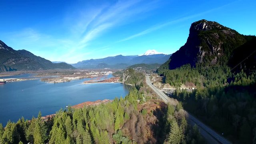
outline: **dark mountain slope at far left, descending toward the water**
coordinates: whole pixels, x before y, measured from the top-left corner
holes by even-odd
[[[64,62],[54,64],[27,50],[14,50],[0,40],[0,72],[12,70],[74,69]]]

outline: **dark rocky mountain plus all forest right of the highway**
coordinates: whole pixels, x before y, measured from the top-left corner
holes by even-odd
[[[233,143],[256,143],[256,37],[207,20],[192,23],[184,46],[160,66],[184,108]]]

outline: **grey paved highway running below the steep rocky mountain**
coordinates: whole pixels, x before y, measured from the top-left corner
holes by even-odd
[[[170,98],[168,96],[166,96],[161,90],[153,86],[153,84],[150,82],[149,76],[146,76],[146,83],[148,84],[148,86],[150,86],[150,88],[152,88],[152,90],[154,90],[154,92],[156,92],[156,94],[160,96],[160,98],[162,98],[162,100],[165,103],[170,102]],[[206,139],[208,144],[231,144],[231,142],[229,142],[228,140],[226,140],[225,138],[217,134],[214,130],[210,129],[208,126],[200,122],[200,120],[198,120],[197,118],[195,118],[189,113],[188,113],[188,122],[190,122],[191,124],[198,125],[201,135]]]

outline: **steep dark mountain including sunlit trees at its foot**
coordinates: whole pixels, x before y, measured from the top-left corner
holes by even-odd
[[[158,68],[158,73],[176,86],[186,82],[197,86],[224,85],[231,82],[228,77],[233,72],[243,69],[251,74],[255,70],[255,44],[255,36],[244,36],[217,22],[200,20],[191,24],[186,44]]]

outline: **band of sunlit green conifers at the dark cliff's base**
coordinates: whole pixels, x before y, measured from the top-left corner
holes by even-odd
[[[165,83],[176,87],[186,82],[192,82],[196,87],[224,86],[231,74],[227,65],[218,64],[206,68],[192,68],[190,64],[186,64],[174,70],[160,68],[158,73],[164,76]]]

